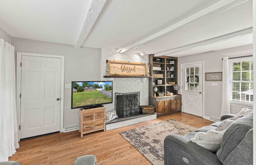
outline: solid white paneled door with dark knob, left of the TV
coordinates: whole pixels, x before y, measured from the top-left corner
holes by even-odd
[[[21,57],[20,138],[60,131],[61,59]]]

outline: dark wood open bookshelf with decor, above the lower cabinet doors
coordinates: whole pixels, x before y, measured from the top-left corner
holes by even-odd
[[[150,65],[150,76],[149,79],[149,96],[154,97],[153,88],[157,88],[157,97],[158,92],[172,92],[177,94],[177,91],[174,90],[174,84],[178,82],[177,74],[177,64],[178,58],[160,56],[155,57],[153,54],[149,55],[149,65]]]

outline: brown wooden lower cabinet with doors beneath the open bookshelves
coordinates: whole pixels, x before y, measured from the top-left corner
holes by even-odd
[[[156,112],[157,116],[161,115],[168,115],[173,112],[178,112],[181,111],[182,109],[182,104],[181,104],[181,95],[174,95],[167,97],[165,96],[164,98],[151,98],[155,99],[151,100],[151,102],[154,102],[156,104]]]

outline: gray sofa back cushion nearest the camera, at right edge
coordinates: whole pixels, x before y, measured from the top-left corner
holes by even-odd
[[[253,114],[241,117],[229,125],[221,140],[220,149],[216,152],[217,157],[223,163],[226,157],[244,139],[246,133],[253,127]]]

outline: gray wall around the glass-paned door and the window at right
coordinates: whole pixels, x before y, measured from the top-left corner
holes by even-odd
[[[178,69],[180,71],[181,64],[184,63],[192,63],[192,62],[199,62],[204,61],[205,64],[205,70],[203,71],[203,74],[205,72],[222,72],[222,58],[223,57],[236,57],[236,56],[244,56],[244,55],[252,55],[253,47],[252,45],[246,45],[236,48],[230,48],[230,49],[223,49],[218,51],[212,51],[208,53],[201,53],[197,55],[192,56],[185,56],[178,58]],[[178,76],[180,76],[180,72],[178,73]],[[180,79],[178,84],[180,85]],[[221,109],[221,88],[222,88],[222,82],[217,82],[218,86],[211,86],[212,82],[204,81],[204,87],[205,87],[205,116],[208,117],[214,117],[219,119],[220,118],[220,109]],[[242,107],[237,107],[236,105],[230,106],[231,113],[237,114]]]

